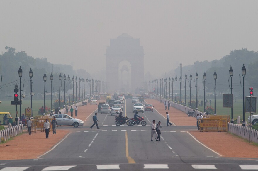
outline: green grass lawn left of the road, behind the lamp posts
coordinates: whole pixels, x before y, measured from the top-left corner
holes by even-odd
[[[32,111],[33,111],[33,117],[38,115],[38,109],[43,106],[44,100],[32,100]],[[51,100],[45,100],[45,105],[47,107],[51,108]],[[21,105],[21,113],[25,113],[25,108],[30,106],[30,99],[23,99],[22,105]],[[18,115],[20,115],[20,106],[17,105],[17,111]],[[15,117],[15,105],[11,105],[11,100],[3,100],[0,104],[0,112],[10,112],[13,117]]]

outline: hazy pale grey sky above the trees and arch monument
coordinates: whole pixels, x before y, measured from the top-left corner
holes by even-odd
[[[5,46],[90,73],[106,67],[110,38],[140,38],[145,73],[161,75],[230,50],[258,50],[258,1],[0,0]]]

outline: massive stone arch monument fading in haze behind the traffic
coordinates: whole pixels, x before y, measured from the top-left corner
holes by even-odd
[[[110,89],[118,90],[119,64],[128,61],[131,64],[131,90],[141,87],[144,80],[144,53],[140,46],[140,39],[134,39],[124,33],[116,39],[110,39],[110,46],[106,49],[106,80]]]

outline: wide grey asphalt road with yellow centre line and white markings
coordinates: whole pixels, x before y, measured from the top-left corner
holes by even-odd
[[[124,104],[123,115],[129,118],[134,115],[130,99]],[[188,133],[196,130],[196,126],[165,126],[166,118],[157,111],[138,115],[144,117],[146,126],[116,126],[114,116],[98,113],[100,129],[96,126],[90,129],[91,114],[83,127],[59,127],[58,130],[68,129],[71,133],[38,159],[1,161],[0,171],[258,169],[258,160],[223,158],[206,148]],[[161,142],[150,141],[152,120],[162,123]],[[33,149],[28,151],[32,152]]]

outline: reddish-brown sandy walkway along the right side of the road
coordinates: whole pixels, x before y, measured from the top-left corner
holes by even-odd
[[[164,103],[160,103],[160,101],[158,101],[157,99],[145,99],[145,101],[147,103],[152,103],[154,108],[166,117]],[[178,109],[172,107],[168,112],[170,116],[170,121],[172,121],[176,126],[196,125],[195,118],[187,117],[186,113]],[[199,131],[189,131],[189,133],[194,136],[198,141],[206,145],[208,148],[211,148],[215,152],[219,153],[223,157],[258,158],[257,145],[253,145],[253,143],[249,144],[247,140],[232,135],[230,133]]]

